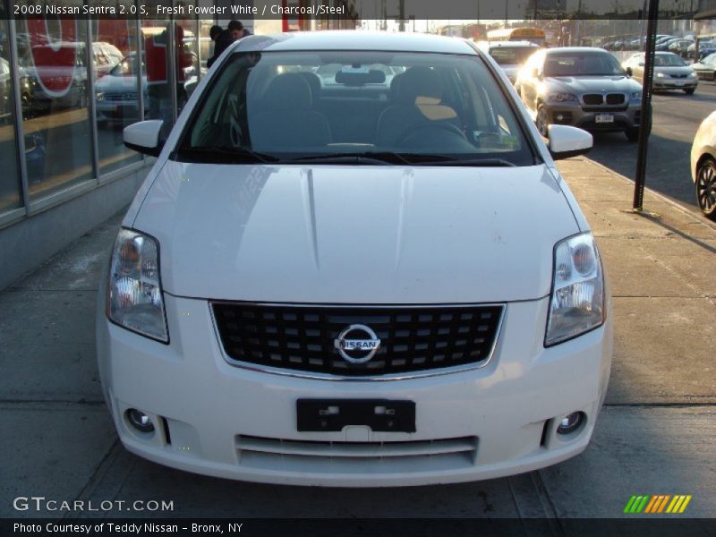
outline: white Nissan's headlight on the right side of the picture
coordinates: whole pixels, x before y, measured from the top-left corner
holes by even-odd
[[[591,233],[554,248],[554,274],[544,345],[556,345],[604,323],[604,276]]]

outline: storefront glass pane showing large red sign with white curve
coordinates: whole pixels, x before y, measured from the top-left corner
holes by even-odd
[[[17,20],[16,30],[28,86],[25,162],[38,200],[93,175],[87,32],[85,21],[52,17]]]

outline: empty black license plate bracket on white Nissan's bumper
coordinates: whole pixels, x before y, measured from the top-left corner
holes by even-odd
[[[373,431],[415,432],[415,402],[389,399],[298,399],[297,430],[337,431],[366,425]]]

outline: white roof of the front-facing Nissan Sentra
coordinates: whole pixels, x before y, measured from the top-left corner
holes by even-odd
[[[380,50],[434,52],[439,54],[480,54],[467,40],[462,38],[361,30],[297,31],[269,36],[249,36],[236,41],[233,49],[242,52]]]

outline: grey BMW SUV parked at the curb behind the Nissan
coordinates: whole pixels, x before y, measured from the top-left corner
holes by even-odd
[[[601,48],[542,50],[519,72],[516,90],[542,136],[563,124],[639,137],[642,87]]]

